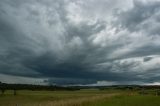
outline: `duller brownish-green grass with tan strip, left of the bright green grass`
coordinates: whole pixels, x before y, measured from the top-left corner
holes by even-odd
[[[117,94],[119,91],[7,91],[0,96],[0,106],[81,106]]]

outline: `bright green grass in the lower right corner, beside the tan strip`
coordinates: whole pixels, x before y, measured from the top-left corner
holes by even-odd
[[[154,95],[120,95],[90,103],[86,106],[160,106],[160,97]]]

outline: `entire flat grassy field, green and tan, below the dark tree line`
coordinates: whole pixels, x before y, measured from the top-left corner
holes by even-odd
[[[149,91],[150,92],[150,91]],[[0,106],[160,106],[160,96],[129,90],[6,91]]]

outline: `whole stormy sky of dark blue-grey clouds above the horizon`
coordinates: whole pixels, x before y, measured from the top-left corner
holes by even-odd
[[[160,84],[160,1],[0,0],[0,81]]]

